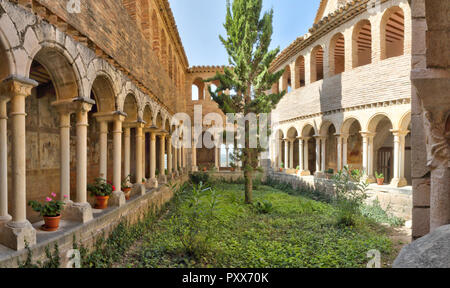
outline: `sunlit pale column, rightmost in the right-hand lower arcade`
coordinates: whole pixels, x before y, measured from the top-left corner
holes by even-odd
[[[391,131],[394,134],[394,178],[391,185],[404,187],[407,185],[405,178],[405,137],[409,131]]]

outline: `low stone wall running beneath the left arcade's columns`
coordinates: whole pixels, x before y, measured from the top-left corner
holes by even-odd
[[[183,175],[176,181],[183,183],[187,181],[187,176]],[[121,221],[135,224],[142,220],[148,212],[157,213],[164,208],[173,197],[173,191],[167,186],[161,186],[154,190],[147,190],[143,196],[134,196],[122,207],[109,208],[102,213],[95,213],[94,219],[86,224],[66,223],[66,227],[54,234],[47,234],[47,240],[39,239],[38,244],[31,247],[33,253],[33,263],[45,261],[45,248],[54,250],[54,245],[58,244],[61,256],[61,267],[65,267],[67,252],[73,248],[74,236],[77,243],[82,243],[85,248],[92,251],[96,240],[99,237],[107,237]],[[39,241],[41,240],[41,241]],[[17,267],[18,261],[23,262],[27,257],[27,251],[13,251],[0,249],[0,267]]]

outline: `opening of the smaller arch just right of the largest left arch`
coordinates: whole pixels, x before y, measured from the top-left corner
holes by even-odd
[[[98,73],[91,86],[91,98],[95,99],[98,112],[116,111],[116,91],[106,73]]]

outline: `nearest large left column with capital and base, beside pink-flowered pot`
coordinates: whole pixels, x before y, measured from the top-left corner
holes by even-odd
[[[6,223],[0,231],[0,243],[14,250],[24,249],[25,241],[30,246],[36,244],[36,230],[31,226],[26,215],[25,98],[31,94],[31,89],[37,85],[38,83],[31,79],[9,77],[0,86],[2,98],[11,99],[12,192],[14,205],[11,213],[12,221]],[[2,105],[6,105],[6,103]],[[5,112],[4,109],[3,112]],[[2,120],[3,123],[4,120]],[[4,187],[1,188],[3,189]],[[3,195],[2,198],[4,198]]]

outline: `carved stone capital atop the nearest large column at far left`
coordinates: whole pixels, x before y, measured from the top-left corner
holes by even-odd
[[[14,96],[27,97],[31,95],[31,89],[38,85],[38,82],[30,78],[9,76],[0,83],[0,98],[7,100]]]

